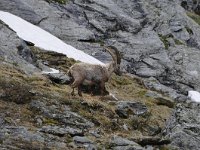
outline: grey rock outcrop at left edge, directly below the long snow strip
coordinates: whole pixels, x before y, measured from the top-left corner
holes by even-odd
[[[1,21],[0,36],[1,63],[4,62],[19,66],[19,68],[27,74],[38,71],[38,69],[31,64],[33,62],[32,54],[25,42]]]

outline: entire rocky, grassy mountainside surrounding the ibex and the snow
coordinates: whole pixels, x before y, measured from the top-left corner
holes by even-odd
[[[39,62],[63,71],[74,62],[55,64],[59,54],[27,45],[0,22],[0,146],[199,149],[199,106],[187,100],[188,90],[200,91],[199,7],[191,0],[1,0],[0,10],[103,62],[111,58],[102,45],[115,46],[129,74],[107,85],[117,100],[73,98],[69,86],[39,73]]]

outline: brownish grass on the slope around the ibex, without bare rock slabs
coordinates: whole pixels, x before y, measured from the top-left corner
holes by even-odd
[[[69,61],[71,62],[71,60]],[[67,62],[67,64],[69,63]],[[67,67],[64,69],[63,66],[60,68],[66,71]],[[4,93],[4,96],[0,97],[0,112],[9,112],[9,115],[6,116],[8,122],[36,130],[37,125],[33,120],[36,114],[29,108],[30,100],[51,101],[57,99],[62,105],[69,105],[74,112],[92,121],[97,128],[101,129],[103,138],[97,141],[100,145],[106,143],[113,134],[124,137],[149,135],[148,128],[154,126],[163,128],[172,111],[171,108],[153,103],[152,98],[145,96],[147,89],[143,86],[142,81],[128,75],[121,77],[113,75],[106,87],[120,101],[137,101],[145,104],[149,111],[146,116],[132,119],[119,118],[115,113],[115,102],[111,97],[91,96],[85,93],[83,97],[72,97],[69,85],[52,83],[40,74],[26,76],[14,65],[0,65],[0,87],[1,93]],[[59,124],[48,118],[44,123]],[[123,124],[127,124],[130,131],[123,129]]]

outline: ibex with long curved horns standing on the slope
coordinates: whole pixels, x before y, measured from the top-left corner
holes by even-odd
[[[68,75],[72,77],[73,83],[71,84],[72,92],[74,95],[74,88],[78,88],[78,95],[82,96],[81,84],[86,82],[89,85],[99,85],[101,95],[105,93],[105,82],[109,80],[112,73],[115,72],[120,75],[121,55],[114,46],[104,47],[112,56],[113,61],[103,65],[94,65],[88,63],[75,63],[69,68]]]

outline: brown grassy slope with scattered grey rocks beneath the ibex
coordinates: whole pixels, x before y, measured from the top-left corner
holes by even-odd
[[[37,58],[54,66],[56,54],[38,51]],[[65,70],[71,60],[65,62],[66,67],[56,66]],[[73,97],[69,85],[39,73],[27,76],[15,64],[1,64],[0,70],[1,148],[142,149],[137,143],[169,143],[161,131],[174,103],[147,90],[142,79],[114,75],[106,87],[115,97]]]

